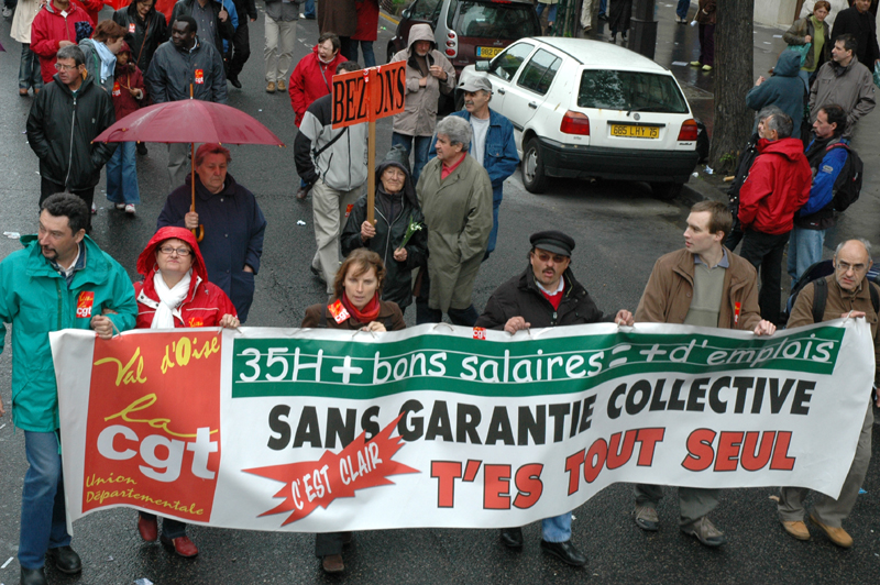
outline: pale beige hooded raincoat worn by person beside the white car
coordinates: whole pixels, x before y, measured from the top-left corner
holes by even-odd
[[[440,65],[447,73],[447,80],[440,81],[437,77],[428,75],[428,85],[419,86],[422,78],[421,71],[413,56],[416,41],[430,41],[431,51],[428,52],[428,66]],[[455,69],[452,64],[437,51],[437,43],[429,24],[416,24],[409,30],[409,45],[404,51],[392,57],[392,63],[405,60],[406,63],[406,103],[404,111],[394,117],[394,131],[407,136],[432,136],[437,125],[437,102],[440,92],[449,95],[455,89]],[[466,307],[466,306],[465,306]]]

